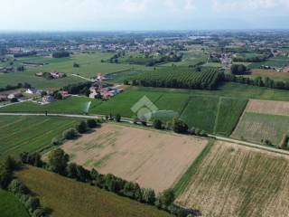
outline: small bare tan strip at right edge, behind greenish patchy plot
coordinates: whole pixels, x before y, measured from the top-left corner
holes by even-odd
[[[246,111],[263,114],[289,116],[289,102],[287,101],[266,101],[250,99]]]

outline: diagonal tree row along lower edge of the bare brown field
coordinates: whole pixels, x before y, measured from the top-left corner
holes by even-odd
[[[29,156],[32,157],[33,155],[25,153],[22,154],[20,158],[22,159],[23,164],[34,165],[33,161],[27,161],[27,159],[30,159]],[[115,175],[99,174],[95,169],[89,171],[81,165],[75,163],[69,164],[69,161],[70,156],[62,149],[58,148],[51,151],[48,156],[47,164],[42,162],[39,165],[51,172],[67,176],[79,182],[89,183],[90,185],[94,185],[112,193],[117,193],[118,195],[128,197],[137,202],[155,205],[157,208],[171,212],[176,216],[187,217],[190,214],[191,216],[194,214],[194,211],[192,210],[186,210],[173,204],[175,195],[172,189],[167,189],[156,196],[154,190],[151,188],[141,188],[139,184],[128,182]]]

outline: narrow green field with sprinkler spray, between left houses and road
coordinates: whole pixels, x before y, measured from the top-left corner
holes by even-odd
[[[91,102],[89,106],[89,102]],[[95,109],[101,101],[86,97],[70,97],[69,99],[57,100],[55,102],[40,105],[35,102],[23,102],[13,106],[4,107],[0,112],[35,112],[35,113],[67,113],[84,114],[89,109]]]

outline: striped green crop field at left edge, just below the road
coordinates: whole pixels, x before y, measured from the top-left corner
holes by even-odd
[[[1,116],[0,158],[17,156],[23,151],[41,151],[50,146],[53,137],[61,136],[76,123],[77,120],[71,118]]]

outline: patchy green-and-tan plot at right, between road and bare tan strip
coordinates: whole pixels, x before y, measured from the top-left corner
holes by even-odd
[[[256,143],[269,139],[277,146],[288,133],[289,117],[245,112],[232,137]]]

